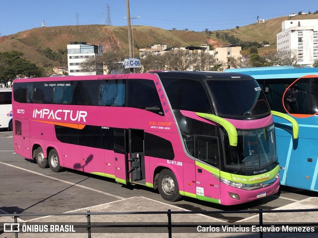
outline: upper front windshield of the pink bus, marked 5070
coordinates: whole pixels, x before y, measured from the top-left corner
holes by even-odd
[[[207,80],[218,114],[255,116],[270,112],[265,95],[255,80]]]

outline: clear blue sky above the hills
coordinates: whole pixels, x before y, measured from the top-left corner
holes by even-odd
[[[0,0],[0,36],[45,26],[126,26],[126,0]],[[129,0],[133,25],[171,30],[225,30],[259,19],[318,10],[318,0]],[[318,18],[318,14],[313,15]]]

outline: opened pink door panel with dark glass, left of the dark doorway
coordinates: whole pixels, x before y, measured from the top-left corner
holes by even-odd
[[[115,181],[127,184],[127,143],[126,130],[114,129]]]

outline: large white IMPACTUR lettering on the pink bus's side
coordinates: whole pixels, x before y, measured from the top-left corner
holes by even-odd
[[[37,110],[33,109],[33,118],[41,118],[41,119],[57,119],[57,120],[67,120],[71,119],[72,121],[83,121],[86,122],[85,117],[87,116],[87,112],[85,111],[73,111],[73,110],[49,110],[49,109],[41,109]]]

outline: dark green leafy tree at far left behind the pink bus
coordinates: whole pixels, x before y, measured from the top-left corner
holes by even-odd
[[[11,87],[17,77],[42,77],[44,70],[23,58],[22,52],[0,52],[0,83]]]

